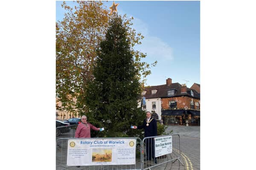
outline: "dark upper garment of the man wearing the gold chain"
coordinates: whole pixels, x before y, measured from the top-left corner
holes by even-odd
[[[146,125],[147,118],[144,119],[143,121],[143,125],[141,126],[137,126],[137,129],[144,129],[144,135],[145,137],[149,137],[149,136],[157,136],[157,121],[156,119],[153,118],[153,120],[148,123],[148,126]]]

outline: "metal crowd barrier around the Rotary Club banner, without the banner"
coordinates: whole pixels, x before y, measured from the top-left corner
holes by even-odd
[[[56,148],[56,170],[139,170],[141,169],[140,159],[135,164],[129,165],[90,165],[90,166],[67,166],[67,151],[69,139],[135,139],[136,140],[136,157],[140,158],[141,139],[140,138],[59,138],[56,143],[60,147]]]

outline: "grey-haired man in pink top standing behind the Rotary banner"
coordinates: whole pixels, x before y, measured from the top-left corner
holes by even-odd
[[[97,128],[87,122],[87,117],[83,115],[81,117],[81,123],[76,128],[75,138],[90,138],[90,130],[100,130],[100,128]]]

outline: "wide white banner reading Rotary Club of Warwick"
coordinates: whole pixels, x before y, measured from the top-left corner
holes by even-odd
[[[67,166],[135,164],[136,139],[68,139]]]

